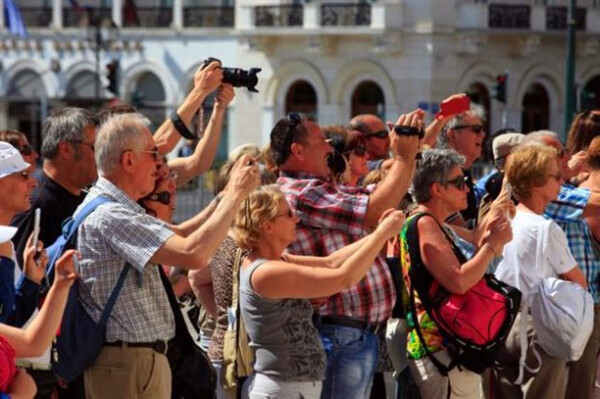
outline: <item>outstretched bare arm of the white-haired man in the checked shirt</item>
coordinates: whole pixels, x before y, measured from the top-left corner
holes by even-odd
[[[171,236],[155,252],[152,262],[184,269],[206,266],[225,238],[240,205],[259,182],[258,165],[250,156],[242,156],[232,169],[223,199],[210,217],[187,237]]]

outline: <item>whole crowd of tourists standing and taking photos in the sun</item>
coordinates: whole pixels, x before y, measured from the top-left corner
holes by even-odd
[[[577,115],[566,147],[547,130],[488,135],[476,105],[430,123],[419,109],[392,123],[358,115],[323,126],[290,113],[267,148],[230,154],[205,209],[174,221],[177,188],[215,159],[235,96],[222,79],[218,62],[199,69],[155,132],[128,106],[55,111],[43,124],[41,171],[26,132],[0,131],[2,397],[171,397],[171,290],[201,308],[193,338],[219,399],[598,394],[598,317],[572,361],[537,345],[525,306],[493,366],[477,373],[456,365],[424,296],[433,286],[463,295],[494,274],[528,303],[542,278],[556,277],[587,290],[598,316],[600,111]],[[213,92],[210,119],[194,122]],[[196,136],[193,150],[166,158]],[[476,180],[486,148],[495,169]],[[99,197],[108,200],[79,226],[46,290],[45,248]],[[97,358],[65,384],[52,371],[52,340],[69,290],[98,321],[124,268]],[[523,359],[539,367],[523,369]]]

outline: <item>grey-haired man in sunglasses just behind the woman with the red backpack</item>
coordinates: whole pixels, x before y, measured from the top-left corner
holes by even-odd
[[[467,228],[477,225],[479,200],[474,190],[471,177],[471,166],[481,156],[486,131],[483,126],[485,111],[478,105],[471,105],[471,110],[463,112],[452,118],[438,137],[438,146],[451,148],[463,155],[466,159],[463,173],[466,177],[469,192],[467,194],[467,208],[451,216],[447,222]]]

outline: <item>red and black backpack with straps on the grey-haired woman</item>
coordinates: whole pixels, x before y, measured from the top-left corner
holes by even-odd
[[[427,213],[418,213],[406,222],[400,233],[401,258],[403,263],[410,263],[410,285],[406,287],[410,298],[409,309],[416,314],[416,291],[423,307],[431,320],[437,324],[445,340],[445,346],[453,359],[450,365],[443,365],[427,350],[418,322],[414,325],[416,333],[427,356],[442,375],[447,375],[456,365],[482,373],[486,368],[493,366],[499,350],[506,341],[519,311],[521,292],[497,280],[491,274],[484,275],[463,295],[452,294],[446,290],[433,278],[421,259],[417,222],[423,216],[433,218]],[[441,225],[439,227],[459,262],[465,263],[467,259],[452,237]],[[416,317],[413,317],[413,320],[416,320]]]

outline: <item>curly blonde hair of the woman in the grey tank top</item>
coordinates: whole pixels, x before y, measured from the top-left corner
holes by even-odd
[[[258,246],[260,226],[277,216],[281,199],[285,199],[285,196],[274,184],[258,187],[246,198],[233,224],[240,248],[252,250]]]

